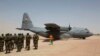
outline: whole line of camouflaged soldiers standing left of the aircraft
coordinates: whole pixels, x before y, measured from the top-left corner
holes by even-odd
[[[30,41],[32,39],[32,36],[27,33],[26,36],[24,36],[23,34],[19,33],[17,34],[2,34],[0,36],[0,52],[3,52],[5,49],[5,53],[10,53],[14,48],[17,48],[16,52],[20,52],[22,50],[22,48],[24,48],[24,40],[26,40],[26,46],[25,49],[26,50],[30,50]],[[38,40],[39,40],[39,36],[37,34],[34,34],[33,36],[33,45],[34,45],[34,49],[38,49]],[[5,46],[5,48],[4,48]]]

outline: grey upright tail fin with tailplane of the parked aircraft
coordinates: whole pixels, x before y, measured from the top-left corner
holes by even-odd
[[[22,27],[17,28],[17,29],[19,29],[19,30],[30,30],[31,28],[33,28],[32,21],[30,20],[28,14],[24,13],[23,14],[23,20],[22,20]]]

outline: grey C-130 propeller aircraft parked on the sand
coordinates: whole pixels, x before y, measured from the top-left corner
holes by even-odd
[[[86,39],[86,37],[93,35],[87,28],[71,27],[70,25],[69,27],[62,27],[55,23],[46,23],[44,25],[44,28],[33,26],[28,14],[24,13],[22,27],[16,29],[31,31],[46,38],[49,38],[49,35],[52,34],[55,40],[69,37]]]

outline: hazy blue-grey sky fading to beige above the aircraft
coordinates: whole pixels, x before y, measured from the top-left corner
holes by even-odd
[[[100,0],[0,0],[0,33],[21,32],[15,28],[21,27],[24,12],[34,26],[54,22],[100,33]]]

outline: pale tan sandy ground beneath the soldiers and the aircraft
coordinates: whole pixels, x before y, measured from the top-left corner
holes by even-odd
[[[22,49],[21,52],[16,52],[14,49],[9,54],[1,52],[0,56],[100,56],[100,36],[91,36],[86,40],[59,40],[55,41],[54,45],[42,41],[39,40],[38,50],[34,50],[31,43],[30,51]]]

